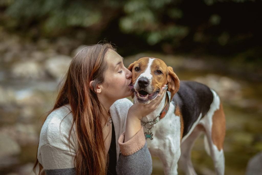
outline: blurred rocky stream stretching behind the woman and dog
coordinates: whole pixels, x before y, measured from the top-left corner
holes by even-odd
[[[2,60],[0,66],[0,174],[33,174],[41,125],[70,60],[65,55],[57,57],[53,51],[50,54],[50,50],[48,56],[46,52],[37,54],[38,59],[29,61]],[[218,92],[226,115],[225,174],[245,174],[248,160],[262,150],[262,83],[212,70],[212,60],[186,56],[141,53],[126,57],[124,64],[128,67],[144,56],[161,58],[173,67],[179,79],[198,81]],[[52,59],[47,62],[46,57]],[[60,66],[60,62],[66,64]],[[198,174],[214,174],[203,136],[195,142],[192,161]],[[155,157],[152,174],[163,174],[162,163]]]

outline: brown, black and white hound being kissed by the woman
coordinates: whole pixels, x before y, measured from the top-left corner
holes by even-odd
[[[157,109],[141,119],[149,151],[160,158],[165,174],[177,174],[178,160],[186,174],[196,174],[191,149],[201,133],[216,174],[224,174],[225,115],[217,93],[197,82],[179,81],[173,68],[157,58],[141,58],[128,69],[135,103],[150,103],[168,85]]]

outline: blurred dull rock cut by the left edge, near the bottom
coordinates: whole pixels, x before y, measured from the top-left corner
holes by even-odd
[[[0,132],[0,167],[18,163],[20,152],[19,144],[9,135]]]

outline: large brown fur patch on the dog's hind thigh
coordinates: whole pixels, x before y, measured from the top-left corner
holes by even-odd
[[[212,141],[220,151],[223,149],[223,143],[226,135],[226,118],[222,103],[220,103],[220,108],[215,111],[212,118],[212,123]]]

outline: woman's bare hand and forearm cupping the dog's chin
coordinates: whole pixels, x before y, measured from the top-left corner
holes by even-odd
[[[153,112],[163,99],[163,94],[167,91],[167,85],[161,88],[157,97],[149,104],[135,103],[133,104],[127,113],[127,123],[125,128],[125,140],[130,140],[141,128],[141,119]]]

